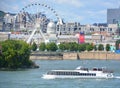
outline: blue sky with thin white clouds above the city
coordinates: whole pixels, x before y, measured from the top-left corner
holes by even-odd
[[[49,5],[65,22],[81,24],[106,22],[107,9],[120,6],[120,0],[0,0],[0,10],[19,13],[22,8],[35,2]]]

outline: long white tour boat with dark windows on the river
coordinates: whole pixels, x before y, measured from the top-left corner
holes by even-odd
[[[113,72],[105,68],[93,68],[89,70],[84,67],[77,67],[75,70],[51,70],[43,75],[45,79],[54,78],[113,78]]]

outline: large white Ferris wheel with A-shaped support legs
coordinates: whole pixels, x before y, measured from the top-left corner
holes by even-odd
[[[19,22],[23,24],[24,29],[32,29],[32,33],[28,38],[27,43],[31,42],[31,39],[37,30],[39,30],[42,38],[46,40],[43,32],[46,32],[47,24],[51,20],[57,22],[60,19],[57,12],[52,7],[41,3],[28,4],[20,10],[18,15]]]

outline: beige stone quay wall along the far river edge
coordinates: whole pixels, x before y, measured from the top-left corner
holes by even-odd
[[[113,52],[34,52],[31,60],[120,60]]]

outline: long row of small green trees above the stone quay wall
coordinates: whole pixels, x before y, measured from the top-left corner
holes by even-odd
[[[54,42],[51,43],[40,43],[39,47],[37,47],[37,44],[34,42],[32,45],[32,50],[36,51],[37,48],[39,48],[39,51],[109,51],[110,50],[110,44],[107,44],[106,47],[104,47],[103,44],[99,44],[99,45],[94,45],[94,44],[90,44],[90,43],[83,43],[83,44],[78,44],[76,42],[70,42],[70,43],[60,43],[60,44],[56,44]]]

